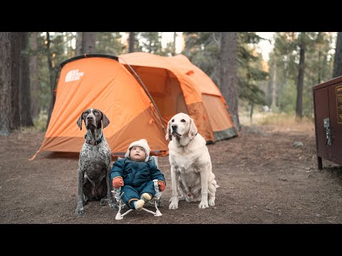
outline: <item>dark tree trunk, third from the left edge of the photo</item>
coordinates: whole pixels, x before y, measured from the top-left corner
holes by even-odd
[[[31,86],[30,86],[30,66],[27,48],[28,32],[21,32],[21,64],[19,83],[19,113],[22,127],[33,126],[31,117]]]

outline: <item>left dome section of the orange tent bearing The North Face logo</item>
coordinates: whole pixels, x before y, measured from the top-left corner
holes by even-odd
[[[36,154],[79,152],[86,132],[76,121],[87,108],[97,108],[110,119],[103,132],[113,155],[125,154],[131,142],[142,138],[147,139],[151,154],[167,154],[166,127],[152,100],[110,55],[84,55],[61,63],[53,112]]]

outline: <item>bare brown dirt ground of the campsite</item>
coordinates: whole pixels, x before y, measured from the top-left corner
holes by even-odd
[[[342,167],[316,163],[314,125],[245,126],[239,137],[209,144],[216,175],[216,205],[199,209],[180,201],[169,210],[170,164],[159,158],[167,186],[155,217],[133,211],[115,220],[116,210],[90,201],[75,215],[78,154],[41,152],[43,132],[14,132],[1,137],[0,223],[342,223]],[[304,146],[294,147],[294,142]]]

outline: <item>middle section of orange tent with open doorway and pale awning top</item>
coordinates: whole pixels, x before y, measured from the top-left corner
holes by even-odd
[[[126,64],[130,72],[137,73],[147,87],[165,126],[175,114],[184,112],[194,119],[198,132],[207,142],[214,141],[199,88],[194,86],[187,75],[180,72],[177,65],[170,63],[169,59],[152,53],[128,53],[119,56],[120,62]]]

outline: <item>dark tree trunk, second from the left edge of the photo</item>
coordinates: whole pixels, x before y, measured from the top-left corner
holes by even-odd
[[[11,129],[19,129],[20,32],[11,33]]]

